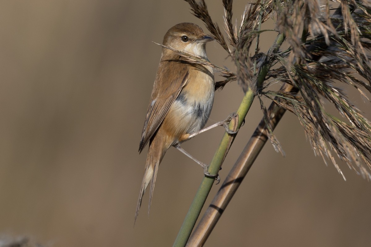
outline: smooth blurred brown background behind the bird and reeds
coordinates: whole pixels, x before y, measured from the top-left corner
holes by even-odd
[[[208,3],[221,25],[221,1]],[[236,17],[244,4],[234,3]],[[151,215],[146,193],[133,228],[147,148],[137,151],[161,56],[151,41],[185,21],[206,31],[181,0],[1,1],[0,236],[53,247],[172,245],[202,169],[168,150]],[[207,50],[234,70],[216,42]],[[236,83],[218,91],[209,124],[242,97]],[[371,118],[369,103],[349,97]],[[222,180],[261,116],[255,102]],[[208,163],[222,134],[216,128],[183,147]],[[266,145],[206,246],[370,246],[371,184],[341,163],[344,181],[315,157],[292,114],[276,135],[286,158]]]

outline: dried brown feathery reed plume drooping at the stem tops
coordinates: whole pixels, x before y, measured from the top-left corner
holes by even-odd
[[[223,0],[226,41],[219,26],[211,20],[205,2],[186,1],[194,16],[204,21],[234,60],[236,74],[207,61],[202,63],[223,73],[227,78],[224,84],[237,79],[244,91],[251,89],[259,98],[266,96],[298,116],[315,153],[324,160],[330,158],[339,173],[331,150],[350,168],[371,180],[371,123],[349,101],[344,90],[334,86],[349,84],[369,100],[366,91],[371,92],[370,4],[339,1],[334,8],[329,1],[320,5],[316,0],[258,0],[247,4],[240,24],[233,25],[232,1]],[[289,49],[259,53],[259,34],[269,31],[261,30],[260,26],[270,18],[276,21],[276,31],[283,34]],[[251,51],[253,42],[257,42],[256,48]],[[254,56],[250,57],[250,53]],[[257,77],[267,64],[269,70],[260,82]],[[269,85],[278,81],[293,85],[299,95],[269,90]],[[344,119],[329,114],[324,108],[325,101],[332,103]],[[262,109],[266,109],[261,102]],[[266,114],[265,117],[269,119]],[[275,147],[279,146],[275,138],[271,140]]]

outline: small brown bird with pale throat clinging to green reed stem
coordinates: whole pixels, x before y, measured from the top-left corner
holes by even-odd
[[[180,23],[167,31],[162,44],[207,60],[205,46],[211,40],[214,39],[206,36],[196,24]],[[189,63],[175,51],[163,47],[139,144],[139,152],[148,142],[150,147],[135,220],[143,194],[151,182],[148,214],[150,212],[158,167],[166,150],[174,146],[191,157],[179,144],[205,126],[213,101],[213,69],[203,64]],[[205,164],[196,162],[207,169]]]

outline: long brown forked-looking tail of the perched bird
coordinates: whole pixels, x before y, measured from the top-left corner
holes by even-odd
[[[135,225],[135,221],[137,221],[137,217],[139,214],[139,208],[142,203],[144,192],[147,189],[148,184],[150,184],[151,182],[150,200],[148,201],[148,215],[150,215],[151,201],[152,201],[153,189],[155,187],[158,167],[160,166],[160,162],[162,158],[164,157],[166,150],[168,149],[168,147],[162,148],[164,145],[162,143],[158,143],[159,140],[156,140],[156,139],[157,138],[155,137],[154,140],[150,143],[150,147],[148,149],[147,161],[145,163],[144,176],[143,176],[142,185],[140,188],[139,198],[138,198],[138,203],[137,203],[137,211],[135,211],[134,225]]]

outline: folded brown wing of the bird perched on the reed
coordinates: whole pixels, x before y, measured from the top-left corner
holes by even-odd
[[[179,63],[178,57],[176,59],[173,57],[171,59],[161,58],[151,94],[150,106],[148,106],[144,121],[139,152],[143,150],[154,135],[181,89],[187,84],[188,74],[187,64]]]

